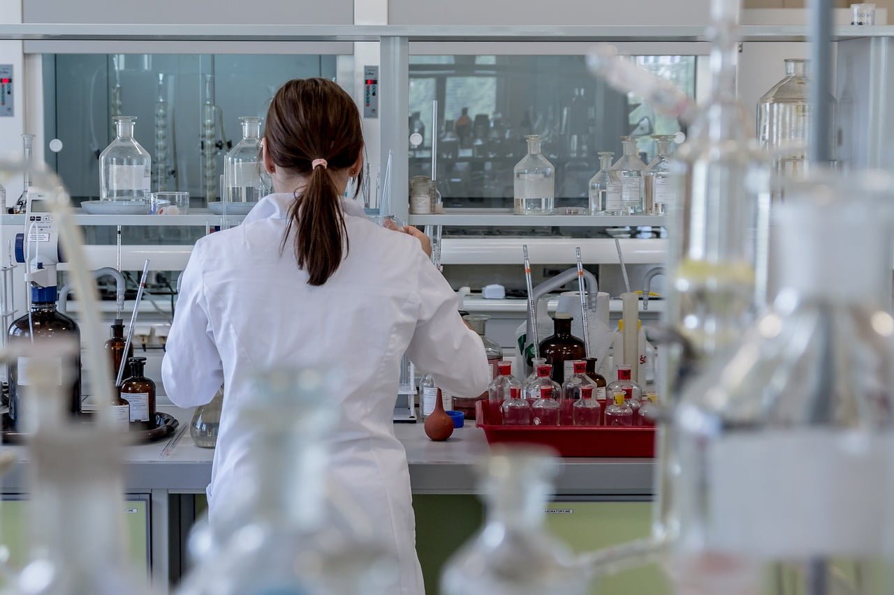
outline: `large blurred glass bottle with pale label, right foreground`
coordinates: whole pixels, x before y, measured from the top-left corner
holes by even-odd
[[[862,578],[808,592],[890,592],[873,567],[894,538],[892,186],[824,174],[774,206],[783,289],[674,415],[682,573],[707,559],[741,575],[786,562],[829,582],[843,565]],[[858,235],[837,231],[857,222]]]

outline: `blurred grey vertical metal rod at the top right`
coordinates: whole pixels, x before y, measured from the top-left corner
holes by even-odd
[[[810,0],[807,4],[810,38],[810,57],[813,65],[813,84],[808,88],[810,99],[810,144],[808,161],[829,163],[832,159],[831,140],[831,62],[832,62],[832,4],[831,0]]]

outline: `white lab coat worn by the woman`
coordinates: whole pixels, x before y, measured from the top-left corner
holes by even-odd
[[[274,365],[332,366],[342,404],[329,437],[329,477],[350,490],[376,536],[401,563],[400,588],[424,592],[416,556],[409,469],[392,412],[401,356],[443,390],[475,396],[490,381],[481,339],[462,323],[458,299],[418,240],[369,222],[342,200],[350,250],[323,286],[308,285],[292,239],[280,251],[291,194],[262,199],[240,226],[198,240],[183,272],[167,339],[164,390],[179,406],[203,405],[223,383],[220,432],[207,493],[210,515],[240,489],[250,430],[237,423],[253,396],[250,374]]]

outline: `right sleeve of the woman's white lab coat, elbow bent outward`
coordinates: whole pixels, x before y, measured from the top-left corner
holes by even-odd
[[[485,346],[457,312],[459,298],[450,284],[421,251],[417,257],[417,326],[409,342],[410,361],[445,392],[456,397],[477,397],[487,390],[491,369]]]

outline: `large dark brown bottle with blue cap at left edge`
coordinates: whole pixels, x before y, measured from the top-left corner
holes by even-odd
[[[10,325],[8,331],[10,343],[30,340],[33,329],[35,338],[51,339],[72,336],[76,344],[80,346],[78,323],[65,314],[57,312],[55,300],[55,287],[31,288],[30,320],[29,315],[25,314]],[[20,357],[17,362],[6,365],[6,378],[9,379],[9,413],[3,415],[3,429],[6,432],[21,432],[24,428],[21,420],[20,386],[26,382],[23,376],[27,365],[28,358],[26,357]],[[63,364],[60,362],[61,365]],[[68,409],[72,415],[80,415],[80,352],[68,365],[72,366],[74,375]],[[60,368],[60,375],[61,373],[62,369]],[[20,378],[20,376],[22,377]]]

